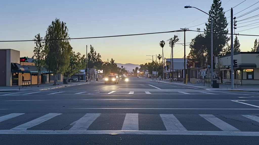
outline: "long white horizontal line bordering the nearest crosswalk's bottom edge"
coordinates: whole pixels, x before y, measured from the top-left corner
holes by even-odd
[[[259,132],[240,131],[131,131],[131,130],[0,130],[0,134],[146,134],[146,135],[213,135],[259,136]]]

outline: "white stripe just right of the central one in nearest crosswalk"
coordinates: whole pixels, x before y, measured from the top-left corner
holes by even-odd
[[[173,114],[160,114],[167,131],[187,131]]]

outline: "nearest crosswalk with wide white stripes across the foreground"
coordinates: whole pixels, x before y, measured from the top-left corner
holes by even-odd
[[[52,134],[111,134],[113,132],[119,134],[259,136],[259,114],[86,113],[71,117],[69,115],[71,114],[0,114],[0,134],[45,134],[52,131]]]

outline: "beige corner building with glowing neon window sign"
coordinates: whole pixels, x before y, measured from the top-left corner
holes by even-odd
[[[259,52],[238,52],[234,60],[237,60],[234,84],[259,84]],[[215,57],[215,67],[221,83],[231,82],[231,55]]]

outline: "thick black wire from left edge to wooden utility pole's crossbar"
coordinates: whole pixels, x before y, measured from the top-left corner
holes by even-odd
[[[172,33],[172,32],[183,32],[183,30],[166,31],[166,32],[155,32],[155,33],[129,34],[129,35],[100,36],[100,37],[82,37],[82,38],[64,38],[64,39],[43,39],[43,40],[40,40],[40,41],[49,41],[49,40],[71,40],[71,39],[91,39],[91,38],[108,38],[108,37],[122,37],[122,36],[136,36],[136,35]],[[11,40],[11,41],[0,41],[0,42],[25,42],[25,41],[34,41],[34,40]]]

